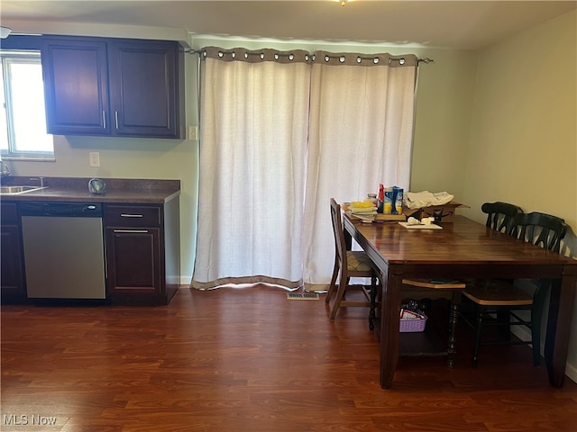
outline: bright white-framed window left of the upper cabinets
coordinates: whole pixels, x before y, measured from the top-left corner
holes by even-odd
[[[0,150],[5,158],[54,158],[46,132],[40,52],[0,52]]]

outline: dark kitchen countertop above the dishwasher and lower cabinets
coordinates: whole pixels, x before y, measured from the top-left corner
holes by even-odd
[[[45,202],[122,202],[163,204],[180,194],[180,180],[151,180],[102,178],[106,184],[104,194],[88,192],[90,178],[43,177],[46,189],[2,195],[2,201]],[[10,175],[2,178],[3,185],[39,186],[38,177]]]

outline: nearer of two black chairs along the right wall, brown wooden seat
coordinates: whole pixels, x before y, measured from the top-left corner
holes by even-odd
[[[489,220],[492,219],[488,219],[488,223]],[[499,222],[495,226],[506,227],[506,225],[506,222]],[[521,212],[514,216],[509,233],[517,239],[558,253],[566,231],[567,225],[563,219],[545,213]],[[533,364],[540,365],[541,320],[551,281],[537,280],[535,285],[535,291],[530,294],[515,286],[513,281],[488,280],[468,286],[463,291],[464,298],[473,302],[476,310],[474,321],[468,320],[466,315],[463,315],[466,322],[476,330],[473,367],[477,365],[482,345],[532,345]],[[519,311],[526,311],[522,313],[528,313],[529,318],[525,318],[527,315],[521,317]],[[496,338],[481,338],[482,329],[486,326],[498,327]],[[510,326],[524,326],[530,329],[531,339],[525,341],[510,338]]]

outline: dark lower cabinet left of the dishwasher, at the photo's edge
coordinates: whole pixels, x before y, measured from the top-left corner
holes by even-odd
[[[0,219],[0,299],[2,302],[23,302],[26,299],[23,248],[15,202],[0,203]]]

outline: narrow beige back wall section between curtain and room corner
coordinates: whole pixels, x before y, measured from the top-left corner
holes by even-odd
[[[477,53],[438,49],[419,67],[411,191],[453,193],[466,202],[463,178],[471,130]]]

